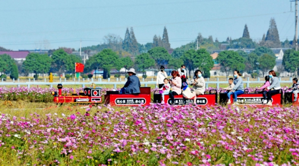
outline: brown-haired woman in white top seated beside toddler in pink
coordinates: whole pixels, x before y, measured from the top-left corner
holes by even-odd
[[[169,98],[171,99],[171,105],[174,104],[174,96],[180,95],[182,93],[181,86],[182,86],[182,79],[180,78],[180,74],[178,71],[172,70],[171,71],[172,79],[169,79],[170,88],[172,92],[169,93]]]

